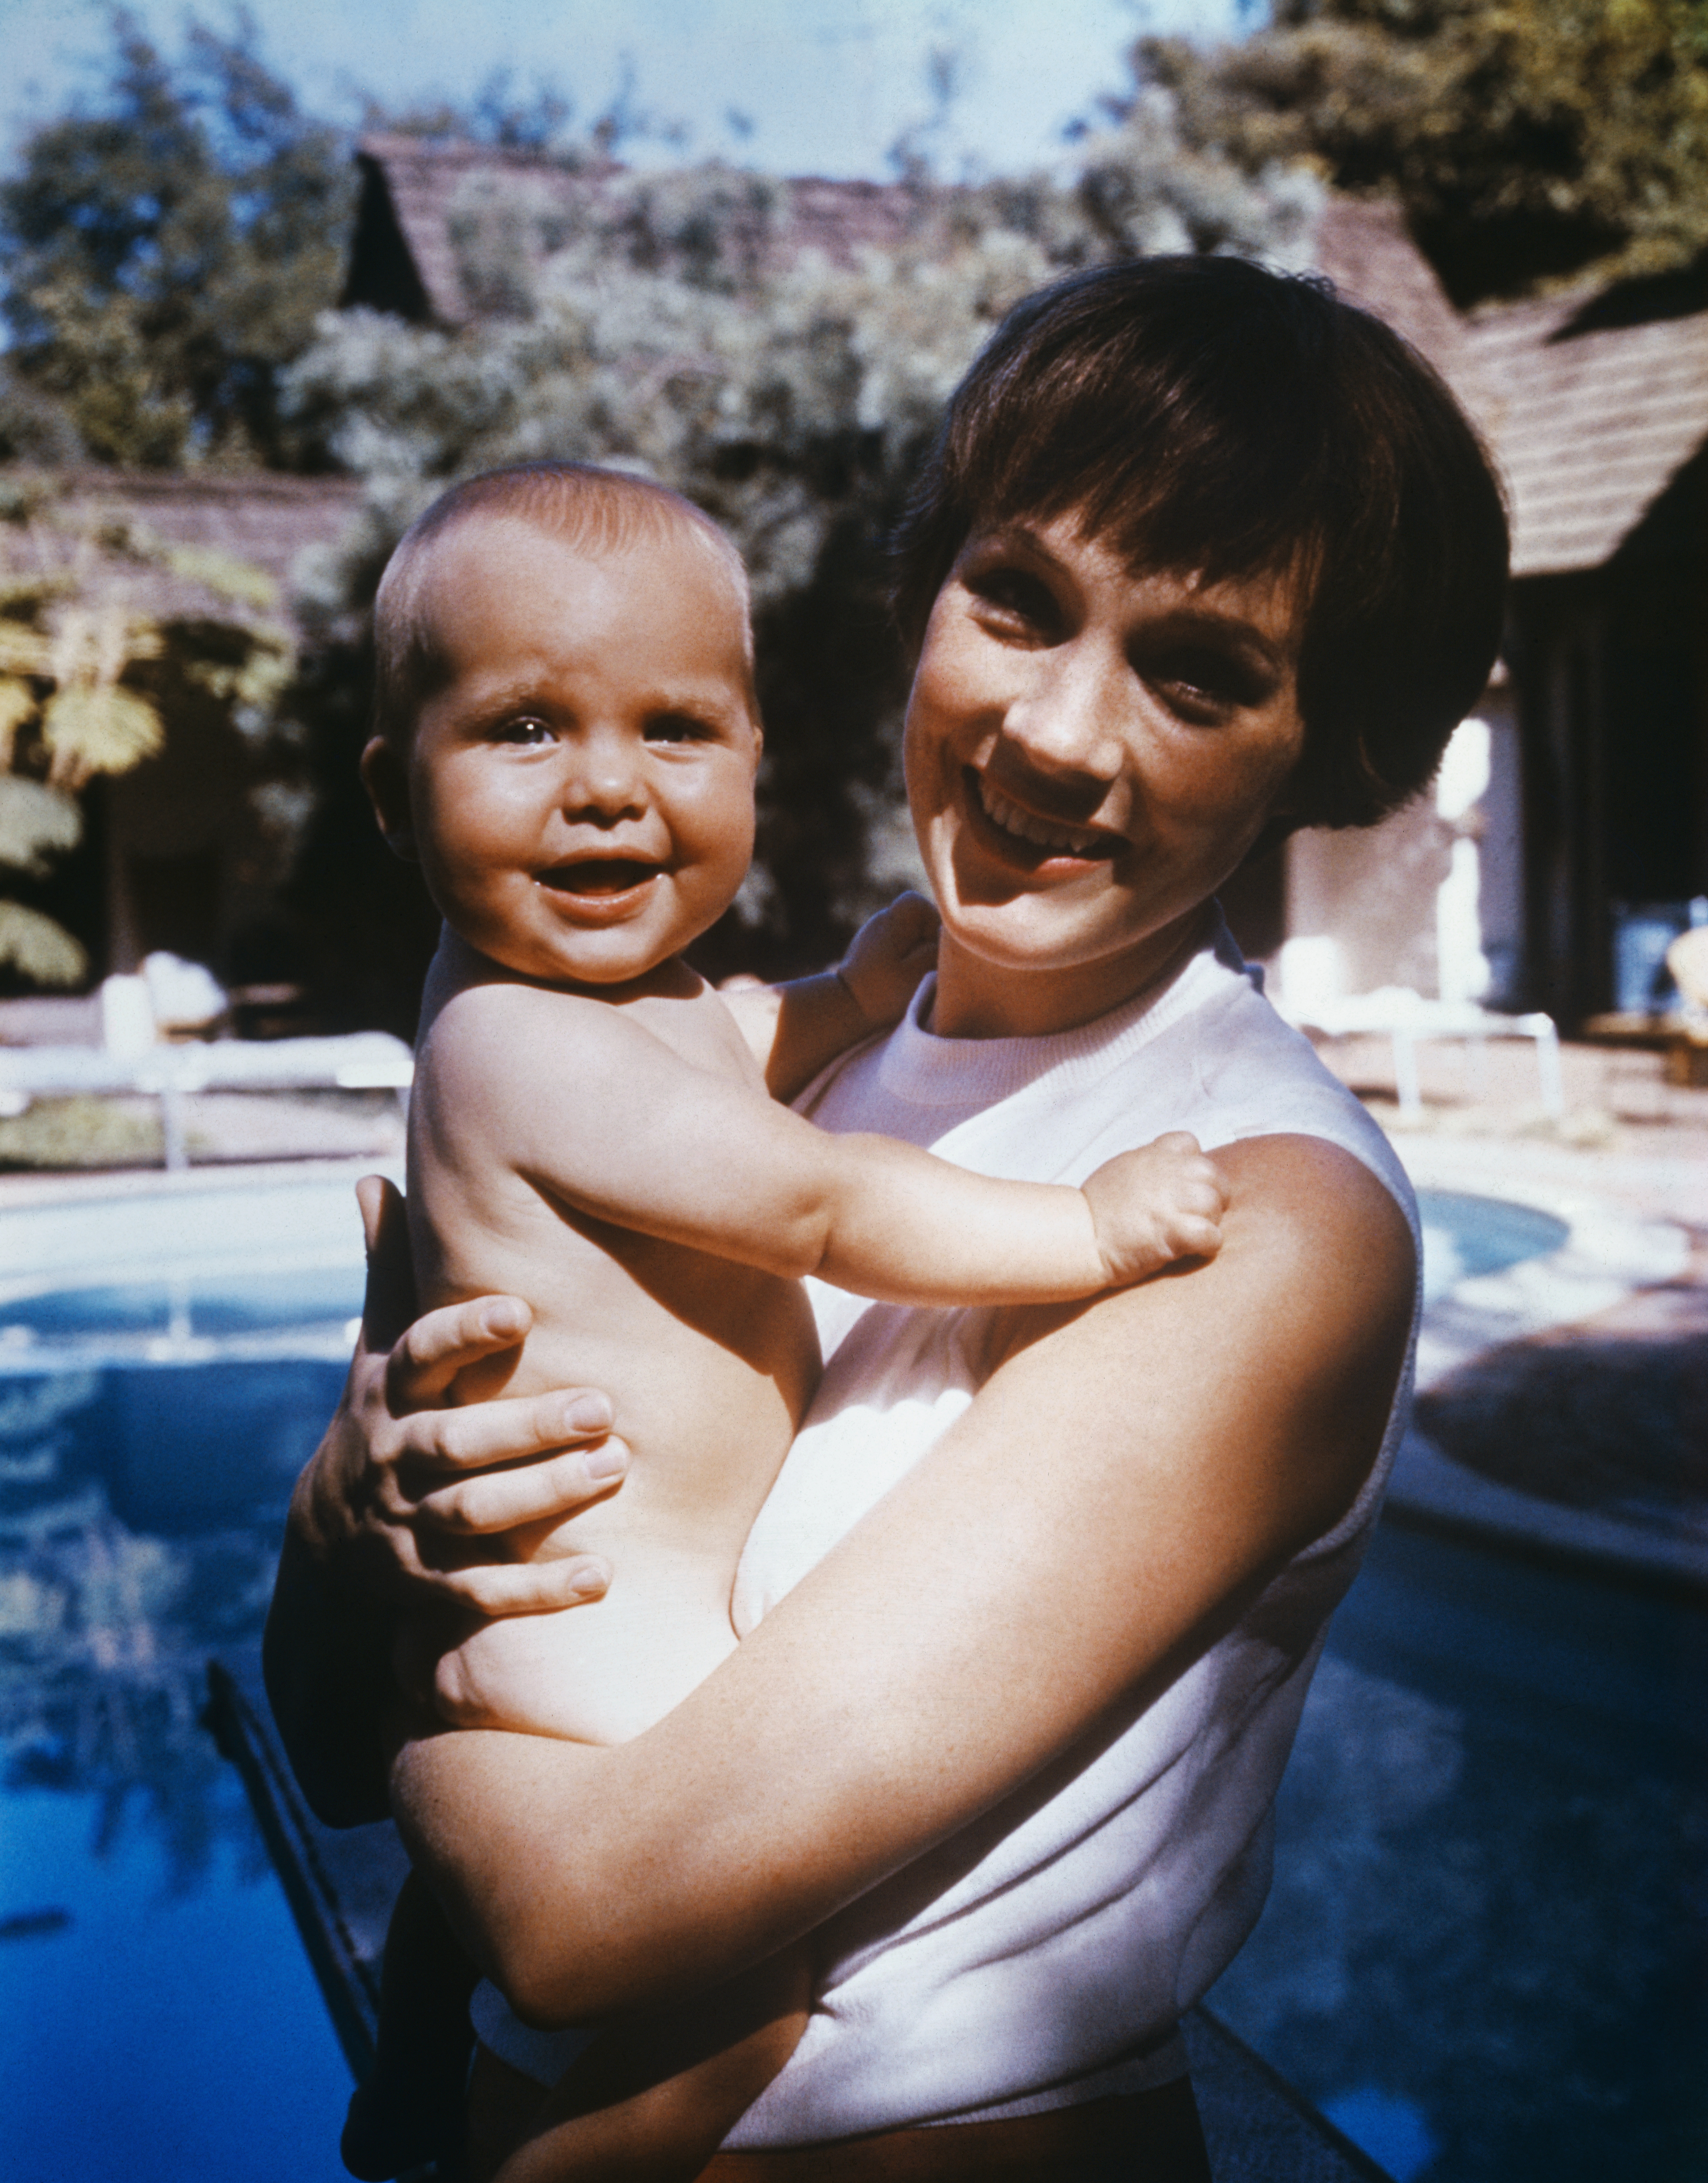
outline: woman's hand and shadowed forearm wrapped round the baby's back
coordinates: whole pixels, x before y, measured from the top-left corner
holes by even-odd
[[[334,1827],[387,1816],[380,1722],[395,1696],[389,1607],[542,1613],[596,1600],[590,1554],[515,1563],[502,1535],[609,1493],[629,1452],[612,1404],[588,1388],[441,1408],[456,1373],[513,1349],[518,1297],[428,1312],[415,1288],[404,1201],[356,1185],[367,1301],[339,1412],[290,1500],[262,1666],[304,1794]]]

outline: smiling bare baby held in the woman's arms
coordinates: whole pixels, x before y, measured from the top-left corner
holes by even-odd
[[[734,1650],[736,1559],[819,1375],[804,1275],[902,1303],[1066,1301],[1214,1253],[1225,1194],[1190,1137],[1070,1190],[780,1105],[900,1017],[933,921],[904,897],[837,971],[778,991],[716,995],[681,961],[747,871],[760,758],[745,574],[690,502],[557,463],[459,485],[393,554],[376,644],[363,779],[446,921],[408,1131],[419,1303],[524,1297],[526,1340],[456,1395],[598,1386],[631,1450],[603,1502],[509,1541],[603,1554],[603,1600],[402,1631],[400,1663],[441,1718],[618,1742]],[[439,1995],[472,1980],[411,1882],[345,2133],[358,2174],[432,2150],[411,2048],[446,2050]],[[797,1949],[721,1995],[699,2043],[601,2032],[507,2183],[697,2174],[804,2019]],[[452,2074],[441,2098],[459,2091]]]

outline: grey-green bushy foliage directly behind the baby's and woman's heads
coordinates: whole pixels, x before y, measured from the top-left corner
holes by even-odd
[[[760,854],[703,961],[828,961],[917,869],[882,535],[996,319],[1116,253],[1306,253],[1315,183],[1193,153],[1166,114],[1088,140],[1079,159],[1070,183],[915,181],[904,242],[854,266],[778,249],[788,183],[727,166],[625,177],[572,218],[546,190],[470,177],[452,210],[459,271],[502,314],[450,334],[349,312],[286,375],[290,419],[367,480],[363,524],[306,598],[319,651],[299,701],[321,777],[354,779],[365,611],[398,535],[452,478],[537,456],[640,469],[708,509],[754,578]],[[328,971],[354,976],[376,917],[349,893],[369,884],[352,845],[371,840],[352,806],[354,790],[332,790],[299,902],[336,932]],[[360,976],[378,989],[378,965]]]

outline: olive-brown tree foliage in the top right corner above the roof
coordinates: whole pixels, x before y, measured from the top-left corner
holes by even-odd
[[[1459,303],[1708,244],[1708,0],[1280,0],[1134,68],[1199,151],[1398,192]]]

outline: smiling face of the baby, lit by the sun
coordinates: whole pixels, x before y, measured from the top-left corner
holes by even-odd
[[[760,731],[732,583],[692,537],[603,554],[483,520],[443,539],[428,611],[450,675],[415,723],[400,845],[507,969],[647,976],[730,906],[754,854]]]

